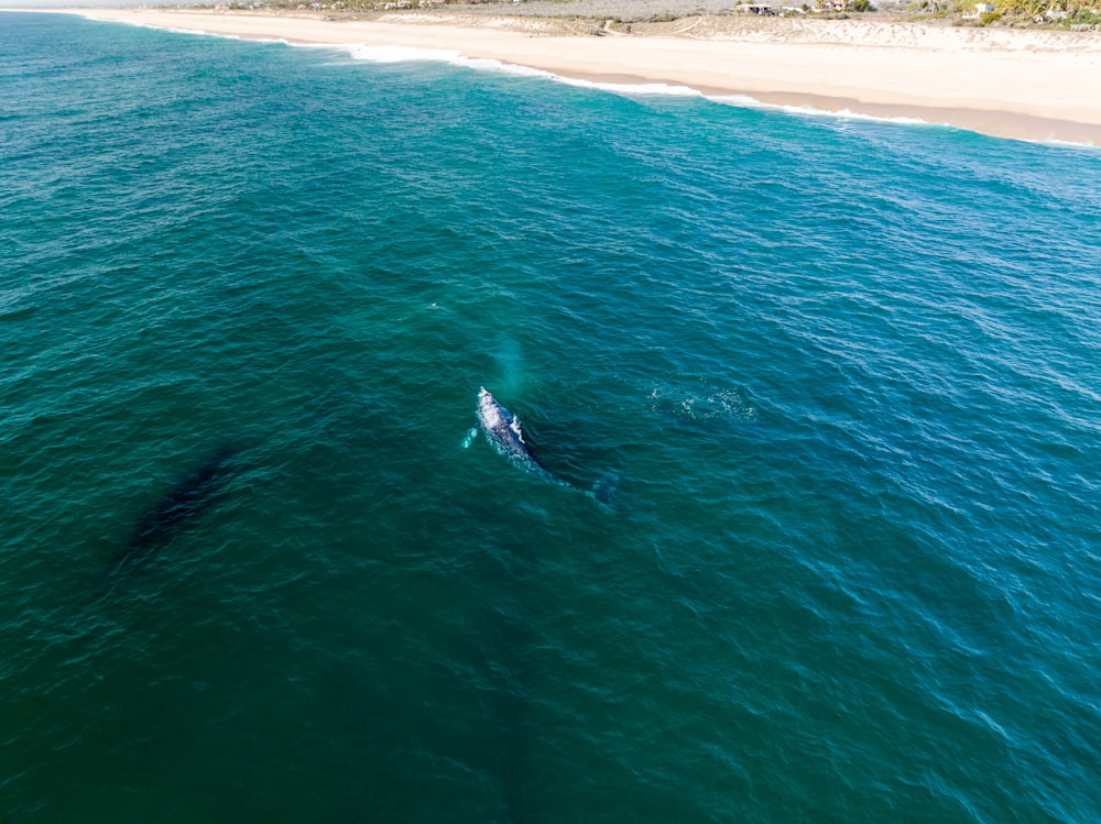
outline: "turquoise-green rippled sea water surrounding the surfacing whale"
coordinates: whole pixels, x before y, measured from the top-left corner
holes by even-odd
[[[31,14],[0,147],[0,821],[1101,818],[1095,150]]]

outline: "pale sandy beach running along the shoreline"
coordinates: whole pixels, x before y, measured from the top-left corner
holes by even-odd
[[[371,19],[197,10],[74,13],[295,43],[442,50],[571,78],[671,84],[708,95],[743,95],[767,105],[1101,145],[1097,32],[952,28],[868,18],[707,15],[628,28],[449,11]]]

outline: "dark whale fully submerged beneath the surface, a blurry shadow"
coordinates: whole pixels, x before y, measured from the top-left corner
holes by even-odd
[[[236,454],[221,449],[181,474],[138,519],[130,542],[115,558],[113,573],[141,562],[192,524],[212,503],[225,481],[226,465]]]

